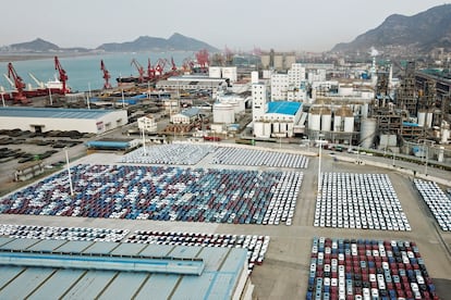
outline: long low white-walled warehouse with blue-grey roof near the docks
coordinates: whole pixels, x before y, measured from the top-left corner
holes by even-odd
[[[101,134],[129,123],[125,110],[0,108],[0,128],[33,133],[77,130]]]

